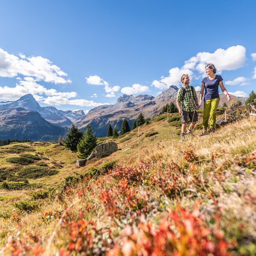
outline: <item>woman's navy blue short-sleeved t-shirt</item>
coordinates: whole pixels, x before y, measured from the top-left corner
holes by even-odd
[[[219,98],[219,82],[222,80],[223,78],[220,75],[216,75],[212,80],[206,76],[202,80],[202,84],[205,85],[204,101],[207,101],[207,99]]]

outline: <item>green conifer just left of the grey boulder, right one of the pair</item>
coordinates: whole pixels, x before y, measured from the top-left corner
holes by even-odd
[[[90,155],[91,151],[97,146],[97,138],[95,133],[93,132],[93,128],[90,124],[88,124],[87,129],[77,145],[77,151],[79,158],[84,159]]]

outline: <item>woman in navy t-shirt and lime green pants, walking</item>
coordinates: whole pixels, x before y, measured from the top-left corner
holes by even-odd
[[[230,95],[223,85],[223,78],[220,75],[216,75],[216,67],[213,64],[207,64],[205,67],[205,72],[207,76],[202,80],[202,87],[200,91],[200,101],[199,105],[202,106],[202,99],[204,94],[204,118],[203,118],[203,133],[206,135],[208,133],[208,120],[209,120],[209,133],[215,132],[215,122],[216,122],[216,111],[219,105],[219,86],[222,92],[230,101]],[[205,90],[205,93],[204,93]]]

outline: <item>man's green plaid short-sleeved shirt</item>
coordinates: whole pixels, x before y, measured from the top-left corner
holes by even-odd
[[[196,110],[195,99],[197,99],[197,93],[195,92],[195,88],[192,91],[191,86],[185,87],[184,85],[182,85],[182,87],[185,88],[186,93],[184,95],[184,98],[182,99],[183,91],[181,88],[178,89],[176,102],[180,102],[181,110],[193,112]]]

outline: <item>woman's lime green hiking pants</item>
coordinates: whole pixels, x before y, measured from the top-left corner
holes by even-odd
[[[216,112],[219,105],[219,98],[216,99],[207,99],[204,102],[204,118],[203,118],[203,128],[206,129],[208,127],[209,120],[209,128],[215,128],[216,122]]]

